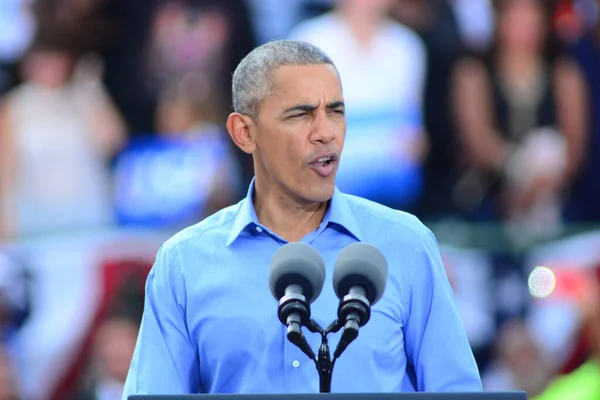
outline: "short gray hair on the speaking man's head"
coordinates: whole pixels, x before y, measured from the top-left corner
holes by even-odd
[[[275,40],[252,50],[233,73],[235,112],[258,116],[258,107],[271,91],[271,72],[279,67],[330,64],[333,61],[318,47],[296,40]]]

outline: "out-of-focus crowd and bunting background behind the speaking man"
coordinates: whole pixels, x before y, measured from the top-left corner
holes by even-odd
[[[0,400],[120,398],[158,246],[246,193],[230,78],[281,38],[339,69],[339,187],[437,235],[484,388],[598,400],[599,10],[0,0]]]

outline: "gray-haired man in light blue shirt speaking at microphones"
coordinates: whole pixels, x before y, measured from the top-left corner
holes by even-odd
[[[480,391],[433,234],[335,187],[346,119],[329,57],[297,41],[254,49],[233,75],[233,107],[227,129],[252,154],[255,177],[240,203],[160,248],[123,398],[318,392],[315,366],[287,340],[269,291],[273,254],[298,241],[322,255],[329,282],[355,242],[377,247],[389,265],[369,323],[335,364],[332,392]],[[326,284],[311,316],[326,326],[338,304]]]

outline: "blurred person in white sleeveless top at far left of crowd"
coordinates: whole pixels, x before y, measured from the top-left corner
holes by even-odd
[[[4,239],[112,223],[108,161],[124,127],[81,63],[77,30],[38,28],[22,62],[24,82],[0,110],[0,232]]]

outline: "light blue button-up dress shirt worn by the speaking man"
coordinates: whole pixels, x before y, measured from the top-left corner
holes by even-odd
[[[166,241],[146,283],[144,315],[123,399],[131,394],[318,393],[314,363],[286,339],[269,291],[271,257],[286,243],[262,226],[253,184],[240,203]],[[419,220],[336,189],[323,222],[302,239],[326,264],[312,304],[337,315],[331,277],[350,243],[378,247],[387,287],[333,370],[332,392],[481,391],[436,239]],[[315,352],[320,336],[305,329]],[[331,351],[340,333],[330,334]]]

